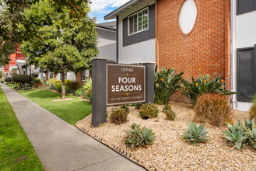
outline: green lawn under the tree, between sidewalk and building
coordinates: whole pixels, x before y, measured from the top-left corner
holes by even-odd
[[[60,99],[61,93],[42,89],[19,91],[19,93],[72,125],[92,112],[91,103],[75,96],[66,96],[75,98],[69,101],[52,102],[52,99]]]

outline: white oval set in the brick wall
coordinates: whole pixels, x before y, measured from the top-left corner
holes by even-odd
[[[188,34],[191,32],[195,25],[195,20],[198,10],[194,0],[186,0],[182,7],[180,13],[180,26],[183,33]]]

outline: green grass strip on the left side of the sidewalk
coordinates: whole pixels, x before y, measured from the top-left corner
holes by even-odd
[[[37,154],[0,86],[0,170],[42,170]]]

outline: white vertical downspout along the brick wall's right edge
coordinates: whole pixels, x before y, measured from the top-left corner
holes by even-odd
[[[231,0],[231,91],[237,91],[237,51],[236,51],[236,0]],[[231,107],[237,109],[237,95],[231,96]]]

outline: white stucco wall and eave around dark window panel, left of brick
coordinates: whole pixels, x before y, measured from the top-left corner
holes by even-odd
[[[155,0],[142,0],[139,4],[132,6],[119,15],[118,23],[118,58],[119,63],[133,64],[142,62],[156,62],[156,39],[146,40],[137,44],[123,47],[123,19],[143,9],[148,5],[155,4]]]

